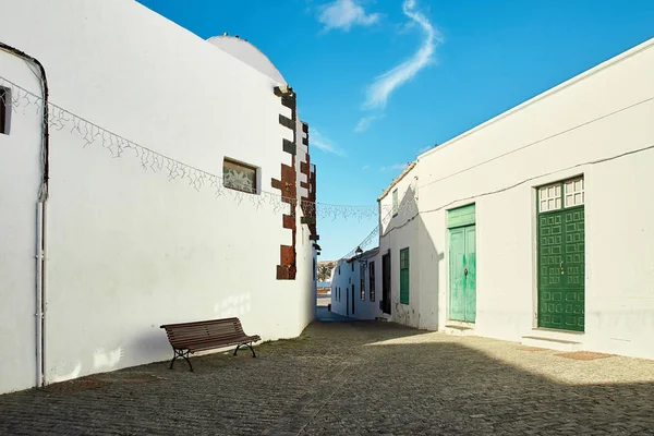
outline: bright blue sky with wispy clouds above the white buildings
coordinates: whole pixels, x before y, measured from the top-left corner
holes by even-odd
[[[318,202],[375,205],[421,150],[654,36],[652,0],[140,0],[246,38],[298,93]],[[377,225],[318,221],[323,261]]]

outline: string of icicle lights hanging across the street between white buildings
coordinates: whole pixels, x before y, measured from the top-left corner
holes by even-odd
[[[44,100],[39,95],[2,76],[0,76],[0,85],[9,89],[9,93],[5,93],[4,96],[9,98],[8,102],[11,104],[14,111],[23,109],[23,113],[26,114],[27,110],[33,108],[35,113],[41,112]],[[287,210],[289,205],[291,208],[300,205],[306,214],[315,214],[320,219],[356,219],[362,221],[378,217],[377,205],[338,205],[310,202],[296,197],[284,197],[276,192],[259,191],[250,193],[245,192],[246,190],[230,189],[229,184],[226,186],[221,175],[184,164],[150,147],[130,141],[51,101],[48,101],[47,106],[49,109],[48,126],[51,131],[68,130],[71,133],[77,134],[83,140],[85,148],[92,145],[99,145],[112,158],[131,156],[146,171],[164,173],[169,181],[185,180],[190,186],[197,191],[210,187],[214,190],[216,197],[230,195],[238,204],[249,202],[254,204],[257,209],[264,205],[271,205],[275,213]]]

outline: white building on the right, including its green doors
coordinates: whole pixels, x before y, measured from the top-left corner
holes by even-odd
[[[654,359],[653,147],[650,39],[421,155],[379,198],[385,312]]]

